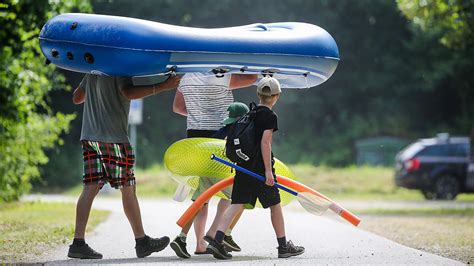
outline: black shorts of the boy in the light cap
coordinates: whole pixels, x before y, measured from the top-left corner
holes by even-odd
[[[268,208],[281,202],[278,188],[267,186],[265,182],[237,171],[232,188],[231,204],[244,204],[246,207],[250,205],[250,208],[254,208],[257,198],[263,208]]]

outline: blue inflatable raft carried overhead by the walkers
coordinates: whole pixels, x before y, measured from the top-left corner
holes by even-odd
[[[147,78],[170,72],[272,74],[284,88],[308,88],[336,70],[336,42],[307,23],[203,29],[140,19],[63,14],[40,33],[43,54],[72,71]]]

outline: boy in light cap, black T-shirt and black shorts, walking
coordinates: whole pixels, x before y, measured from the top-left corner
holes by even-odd
[[[278,241],[278,258],[288,258],[303,254],[304,247],[295,246],[286,240],[285,223],[281,208],[280,193],[275,184],[274,157],[272,153],[273,132],[278,130],[278,117],[272,111],[272,107],[280,98],[281,88],[278,80],[272,77],[264,77],[257,85],[257,95],[260,99],[256,107],[254,118],[255,137],[260,142],[261,152],[255,159],[239,164],[240,166],[266,177],[262,182],[243,172],[237,171],[232,188],[231,206],[224,213],[222,222],[214,240],[207,246],[207,251],[217,259],[230,259],[232,255],[224,248],[223,239],[225,231],[230,226],[235,215],[244,207],[254,207],[256,200],[260,201],[263,208],[270,208],[271,221]]]

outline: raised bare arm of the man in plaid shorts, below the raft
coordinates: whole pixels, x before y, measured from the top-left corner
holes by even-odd
[[[171,76],[166,81],[147,86],[124,86],[122,94],[129,100],[140,99],[178,87],[180,76]]]

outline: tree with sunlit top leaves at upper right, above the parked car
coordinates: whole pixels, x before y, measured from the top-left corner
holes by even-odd
[[[418,52],[418,62],[409,60],[417,66],[412,84],[431,96],[420,99],[425,116],[431,117],[434,129],[467,135],[474,129],[474,1],[397,3],[412,22],[413,38],[407,45]]]

